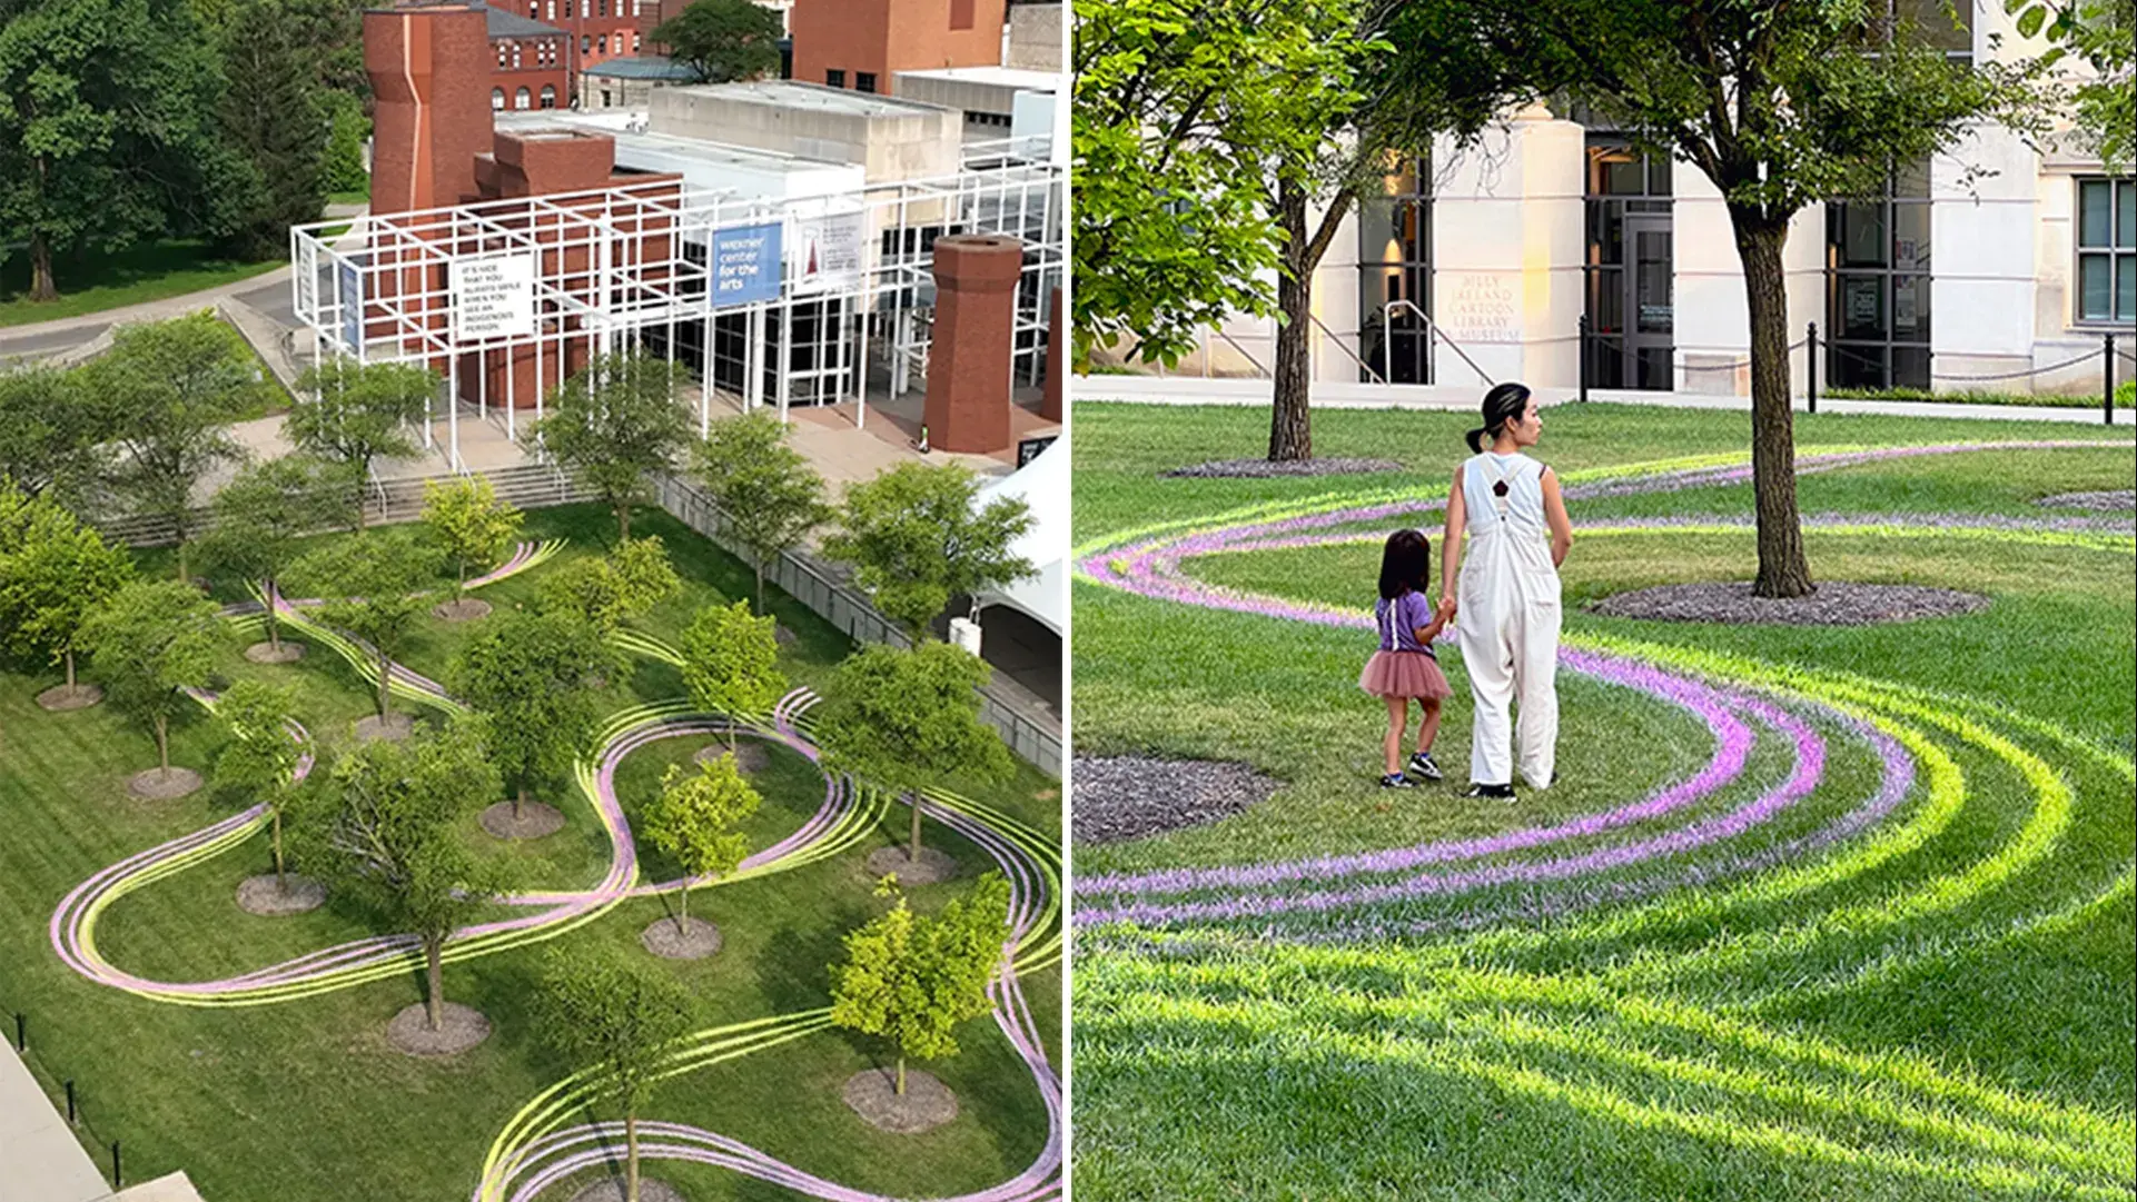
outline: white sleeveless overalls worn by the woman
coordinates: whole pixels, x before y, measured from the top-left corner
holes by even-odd
[[[1504,483],[1504,493],[1496,485]],[[1549,788],[1558,754],[1560,587],[1543,521],[1543,463],[1485,450],[1462,465],[1468,551],[1455,632],[1477,715],[1470,779],[1513,784],[1507,719],[1522,707],[1522,777]],[[1445,553],[1447,549],[1442,549]]]

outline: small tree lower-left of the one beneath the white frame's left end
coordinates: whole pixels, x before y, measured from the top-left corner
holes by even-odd
[[[348,523],[353,495],[340,468],[308,455],[250,463],[216,493],[216,527],[201,538],[201,555],[220,572],[259,581],[267,594],[267,645],[282,655],[282,572],[297,557],[306,534]]]

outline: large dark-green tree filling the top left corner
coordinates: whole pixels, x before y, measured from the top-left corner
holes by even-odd
[[[222,64],[186,0],[0,4],[0,231],[53,258],[124,250],[186,224],[214,156]]]

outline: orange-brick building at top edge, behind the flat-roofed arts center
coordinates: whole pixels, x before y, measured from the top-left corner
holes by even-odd
[[[891,92],[900,70],[998,66],[1007,0],[795,0],[793,77]]]

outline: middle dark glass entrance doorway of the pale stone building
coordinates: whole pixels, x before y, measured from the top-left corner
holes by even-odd
[[[1588,380],[1675,386],[1671,160],[1588,135]]]

